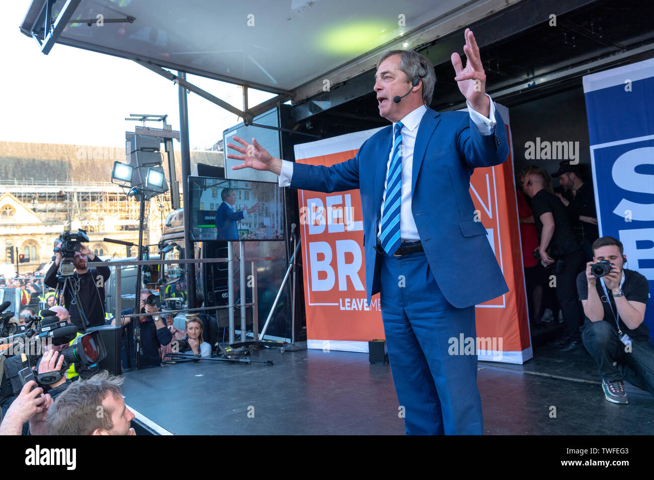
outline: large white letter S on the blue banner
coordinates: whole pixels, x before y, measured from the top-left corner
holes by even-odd
[[[615,185],[623,190],[654,195],[651,174],[636,172],[641,165],[654,165],[654,147],[634,148],[617,157],[611,169]],[[654,203],[642,204],[622,199],[613,213],[625,217],[626,210],[630,210],[632,221],[654,221]]]

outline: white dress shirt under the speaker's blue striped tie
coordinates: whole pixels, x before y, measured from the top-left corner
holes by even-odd
[[[470,103],[468,104],[468,112],[470,113],[470,118],[472,123],[475,124],[477,130],[481,135],[491,135],[495,130],[495,105],[490,98],[490,95],[486,94],[490,100],[490,114],[489,118],[486,118],[476,110],[473,110]],[[402,240],[420,240],[418,235],[418,228],[415,226],[415,220],[413,219],[413,214],[411,213],[411,200],[413,197],[413,192],[411,191],[411,173],[413,171],[413,147],[415,146],[415,137],[418,134],[418,127],[422,116],[424,116],[427,111],[427,107],[424,105],[419,106],[413,112],[407,114],[402,121],[402,200],[400,202],[400,238]],[[393,123],[393,129],[395,128],[395,123]],[[384,180],[384,193],[381,200],[381,211],[379,212],[379,218],[383,218],[384,215],[384,200],[386,199],[386,179],[388,178],[388,167],[390,167],[390,154],[392,153],[392,145],[394,143],[394,138],[391,143],[388,145],[388,161],[386,164],[386,176]],[[288,187],[290,185],[290,179],[293,176],[293,162],[288,160],[282,160],[282,168],[279,174],[279,186]],[[377,237],[381,234],[381,222],[380,225],[377,225]]]

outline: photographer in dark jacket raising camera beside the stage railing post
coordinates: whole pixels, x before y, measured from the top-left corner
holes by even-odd
[[[157,313],[154,303],[148,303],[152,291],[141,290],[141,313]],[[127,308],[120,315],[131,315],[133,310]],[[139,366],[160,366],[162,357],[159,349],[173,340],[173,334],[165,325],[160,315],[142,315],[138,317],[141,328],[141,351],[139,353]],[[123,368],[133,368],[134,362],[134,317],[122,317],[122,362]],[[107,325],[116,325],[116,320],[107,321]]]

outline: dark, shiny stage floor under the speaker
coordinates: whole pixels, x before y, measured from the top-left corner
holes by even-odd
[[[654,434],[654,397],[625,385],[628,405],[606,401],[585,350],[562,354],[547,344],[534,356],[522,366],[479,362],[485,434]],[[275,364],[126,372],[126,404],[176,435],[404,435],[388,364],[319,350],[250,358]]]

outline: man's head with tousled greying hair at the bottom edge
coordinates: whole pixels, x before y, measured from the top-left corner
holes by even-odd
[[[106,370],[74,382],[48,411],[48,435],[135,435],[134,414],[122,398],[122,377]],[[102,415],[98,412],[102,411]]]

